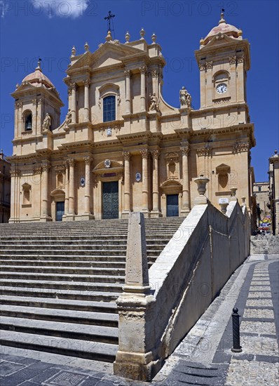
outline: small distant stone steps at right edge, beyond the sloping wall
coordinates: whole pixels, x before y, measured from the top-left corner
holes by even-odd
[[[257,234],[250,238],[251,255],[279,255],[279,236]]]

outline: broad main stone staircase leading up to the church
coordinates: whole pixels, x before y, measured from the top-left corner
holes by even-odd
[[[184,218],[146,219],[152,265]],[[128,220],[0,225],[1,345],[109,361]]]

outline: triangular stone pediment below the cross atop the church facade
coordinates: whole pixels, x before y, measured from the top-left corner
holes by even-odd
[[[125,46],[121,43],[106,42],[95,51],[87,52],[81,56],[70,69],[79,69],[80,67],[91,67],[91,69],[106,67],[108,65],[117,65],[122,63],[123,58],[130,55],[142,54],[144,51],[139,48]]]

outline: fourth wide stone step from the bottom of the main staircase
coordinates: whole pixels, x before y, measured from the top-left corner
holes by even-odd
[[[109,301],[90,301],[90,300],[73,300],[59,298],[34,298],[32,296],[13,296],[2,295],[0,298],[1,305],[16,305],[23,307],[41,307],[57,310],[76,310],[78,312],[109,312],[117,314],[116,302]],[[1,307],[0,307],[1,308]]]

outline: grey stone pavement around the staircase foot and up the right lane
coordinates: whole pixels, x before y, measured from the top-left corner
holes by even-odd
[[[153,386],[279,385],[279,256],[252,255],[191,329]],[[243,352],[231,352],[238,307]],[[111,364],[1,347],[1,386],[147,385],[112,375]]]

